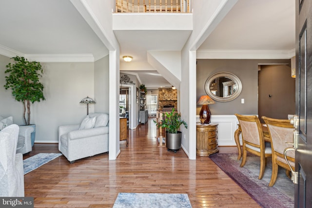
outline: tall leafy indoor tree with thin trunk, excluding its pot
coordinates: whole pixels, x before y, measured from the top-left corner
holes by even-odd
[[[24,57],[12,57],[15,63],[6,65],[9,76],[5,76],[6,84],[4,88],[12,89],[12,95],[19,102],[23,103],[23,118],[25,125],[30,125],[30,102],[40,102],[45,100],[43,96],[43,85],[39,82],[43,70],[41,64],[37,61],[28,61]],[[27,109],[27,120],[26,120]]]

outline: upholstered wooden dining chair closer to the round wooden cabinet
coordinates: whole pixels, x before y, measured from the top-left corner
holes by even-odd
[[[270,145],[268,147],[265,145],[259,118],[256,115],[240,115],[237,113],[235,115],[242,129],[243,139],[243,159],[240,167],[243,167],[246,163],[247,151],[260,156],[260,172],[258,178],[262,179],[266,166],[266,158],[272,156],[272,150]]]

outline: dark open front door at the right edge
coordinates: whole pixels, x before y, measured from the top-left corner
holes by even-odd
[[[299,116],[295,207],[312,207],[312,1],[296,1],[296,114]]]

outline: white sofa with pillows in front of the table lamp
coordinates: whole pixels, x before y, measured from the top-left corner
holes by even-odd
[[[70,163],[108,151],[109,115],[90,113],[80,124],[59,126],[59,151]]]

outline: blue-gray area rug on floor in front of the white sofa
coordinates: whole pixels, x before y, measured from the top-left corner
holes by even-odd
[[[62,154],[61,153],[39,153],[32,157],[28,157],[27,159],[24,159],[23,160],[24,175],[50,162],[51,160],[54,160],[60,155]]]

